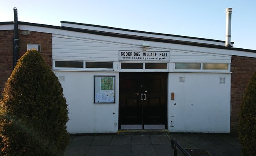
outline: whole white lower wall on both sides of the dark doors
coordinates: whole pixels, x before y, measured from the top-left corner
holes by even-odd
[[[69,109],[69,133],[117,132],[118,72],[54,73],[57,77],[65,76],[61,85]],[[95,75],[116,76],[115,104],[93,103]],[[179,82],[180,77],[185,77],[184,83]],[[219,83],[220,77],[225,77],[225,84]],[[175,100],[171,100],[171,92],[175,93]],[[168,129],[169,132],[230,132],[230,74],[169,73]]]

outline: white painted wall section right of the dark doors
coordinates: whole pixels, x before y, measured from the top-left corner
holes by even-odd
[[[230,132],[230,74],[169,73],[168,96],[169,132]]]

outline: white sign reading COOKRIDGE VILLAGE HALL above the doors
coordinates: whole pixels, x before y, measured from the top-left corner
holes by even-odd
[[[120,61],[169,61],[169,52],[159,51],[119,51]]]

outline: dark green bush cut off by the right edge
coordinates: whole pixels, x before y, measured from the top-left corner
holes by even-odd
[[[256,73],[245,89],[241,104],[239,139],[243,155],[256,156]]]

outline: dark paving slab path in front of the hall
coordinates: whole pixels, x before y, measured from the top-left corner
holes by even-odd
[[[171,139],[184,149],[206,150],[211,156],[241,156],[236,136],[204,133],[71,136],[65,156],[174,156]],[[183,156],[179,151],[178,155]]]

